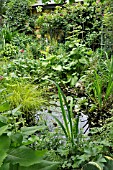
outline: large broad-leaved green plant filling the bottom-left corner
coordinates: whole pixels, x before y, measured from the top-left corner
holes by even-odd
[[[5,89],[1,89],[2,95]],[[21,106],[10,109],[8,101],[5,101],[4,105],[0,102],[0,169],[57,169],[58,163],[50,163],[43,160],[46,150],[33,150],[29,148],[28,144],[33,144],[33,140],[29,143],[29,136],[33,137],[36,131],[40,131],[43,127],[22,127],[20,129],[20,123],[16,122],[16,119],[22,119],[22,114],[19,111]],[[24,125],[24,121],[23,121]]]

